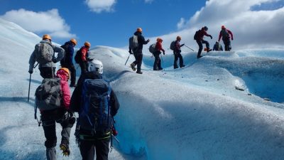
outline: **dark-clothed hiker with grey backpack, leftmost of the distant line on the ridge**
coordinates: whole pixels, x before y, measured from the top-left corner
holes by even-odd
[[[136,32],[134,33],[134,36],[137,36],[138,41],[138,47],[137,48],[129,48],[129,53],[131,53],[131,50],[133,51],[133,55],[135,57],[135,61],[131,63],[131,68],[133,71],[136,70],[135,66],[137,65],[137,71],[136,73],[142,74],[141,72],[141,65],[142,65],[142,59],[143,59],[143,45],[146,45],[150,40],[148,39],[145,41],[145,38],[142,36],[142,28],[137,28]],[[134,37],[133,36],[133,37]]]

